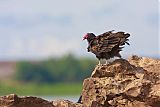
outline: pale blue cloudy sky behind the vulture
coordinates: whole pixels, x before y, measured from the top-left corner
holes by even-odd
[[[87,32],[131,34],[123,56],[160,58],[157,0],[0,0],[0,60],[91,56]]]

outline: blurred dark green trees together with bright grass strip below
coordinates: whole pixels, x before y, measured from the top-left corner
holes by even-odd
[[[0,95],[79,95],[82,82],[96,61],[72,54],[44,61],[19,61],[9,81],[0,82]]]

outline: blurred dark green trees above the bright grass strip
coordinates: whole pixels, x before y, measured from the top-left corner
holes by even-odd
[[[17,63],[15,79],[25,83],[82,82],[90,76],[95,61],[87,58],[75,58],[69,54],[41,62],[21,61]]]

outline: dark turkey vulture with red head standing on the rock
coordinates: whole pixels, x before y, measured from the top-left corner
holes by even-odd
[[[113,31],[108,31],[98,36],[95,36],[93,33],[87,33],[83,40],[87,39],[88,52],[94,53],[100,64],[101,59],[121,58],[119,52],[122,50],[123,45],[129,45],[127,42],[129,36],[130,34],[125,32],[113,33]]]

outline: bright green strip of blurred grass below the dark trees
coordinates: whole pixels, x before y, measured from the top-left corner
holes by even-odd
[[[17,95],[79,95],[81,83],[57,83],[57,84],[20,84],[1,83],[0,95],[15,93]]]

